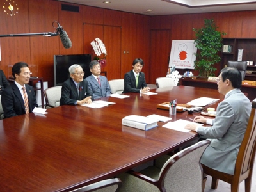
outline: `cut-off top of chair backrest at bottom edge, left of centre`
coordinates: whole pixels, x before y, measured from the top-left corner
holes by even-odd
[[[113,179],[106,179],[102,180],[89,186],[85,186],[83,188],[76,189],[70,192],[90,192],[90,191],[97,191],[97,192],[115,192],[118,188],[122,186],[122,182],[118,178]]]

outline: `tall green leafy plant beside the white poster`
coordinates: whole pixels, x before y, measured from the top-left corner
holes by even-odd
[[[214,76],[216,70],[214,64],[221,60],[218,54],[223,46],[221,35],[226,35],[226,33],[217,31],[217,29],[213,19],[204,19],[204,27],[200,29],[193,28],[198,49],[194,66],[199,76]]]

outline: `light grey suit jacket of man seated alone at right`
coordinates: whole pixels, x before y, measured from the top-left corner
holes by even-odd
[[[241,146],[252,106],[239,89],[226,95],[216,109],[212,127],[198,127],[200,136],[211,144],[202,155],[201,163],[220,172],[234,175],[237,153]]]

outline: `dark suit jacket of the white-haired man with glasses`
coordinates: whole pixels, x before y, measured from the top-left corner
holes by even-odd
[[[88,88],[88,82],[86,79],[83,79],[80,84],[80,92],[79,95],[77,93],[76,84],[74,83],[73,79],[67,79],[61,88],[61,97],[60,97],[60,106],[63,105],[75,105],[77,100],[83,100],[86,97],[92,96],[92,92]]]

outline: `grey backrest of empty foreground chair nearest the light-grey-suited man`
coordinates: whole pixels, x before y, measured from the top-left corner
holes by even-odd
[[[200,141],[170,157],[159,174],[161,188],[166,191],[202,191],[204,175],[200,159],[209,143],[209,140]]]

